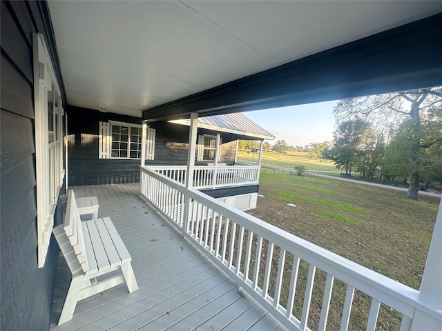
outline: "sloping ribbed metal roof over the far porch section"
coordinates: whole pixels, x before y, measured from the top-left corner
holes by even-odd
[[[170,123],[190,126],[190,119],[177,119]],[[198,128],[219,132],[229,132],[257,139],[274,140],[275,136],[261,128],[255,122],[245,117],[242,113],[222,114],[215,116],[198,117]]]

